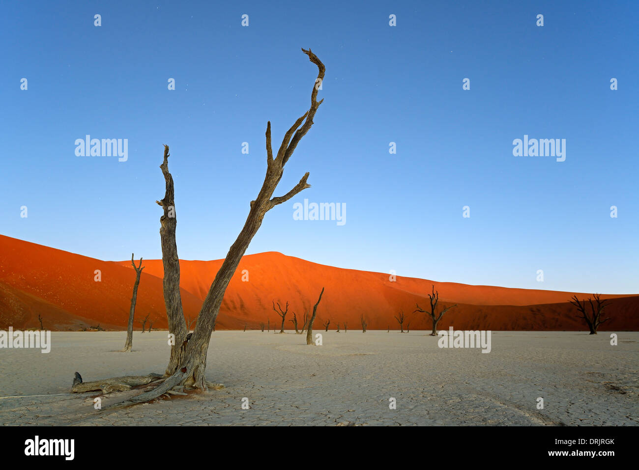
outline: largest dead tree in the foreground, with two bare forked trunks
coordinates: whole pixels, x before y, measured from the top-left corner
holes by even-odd
[[[175,244],[175,215],[174,215],[174,189],[173,178],[168,171],[167,156],[169,156],[169,148],[165,146],[164,163],[161,165],[162,172],[166,180],[167,193],[162,202],[158,202],[164,208],[164,215],[160,218],[162,229],[160,236],[162,239],[162,261],[164,264],[164,301],[167,307],[167,317],[169,319],[169,333],[173,333],[175,337],[174,346],[171,347],[171,358],[169,366],[165,372],[167,377],[164,383],[155,387],[151,391],[147,391],[134,397],[126,402],[121,402],[113,406],[122,406],[123,404],[135,404],[148,402],[154,398],[160,397],[173,388],[196,388],[199,390],[207,390],[212,383],[206,381],[206,353],[211,339],[213,326],[219,314],[220,305],[224,298],[224,292],[228,286],[236,268],[242,259],[242,256],[249,247],[250,241],[255,236],[263,219],[270,209],[274,208],[282,202],[286,202],[297,193],[305,188],[309,188],[307,183],[309,173],[307,172],[300,182],[295,185],[288,193],[283,196],[273,197],[273,192],[279,184],[284,174],[284,165],[293,155],[300,140],[313,125],[313,118],[323,100],[317,101],[318,88],[325,76],[325,66],[311,50],[302,49],[307,54],[310,61],[318,67],[318,77],[313,82],[311,91],[311,107],[301,117],[299,117],[293,126],[284,134],[282,144],[277,151],[277,155],[273,158],[271,147],[271,125],[266,125],[266,176],[259,190],[258,196],[254,201],[250,202],[249,215],[242,227],[242,231],[236,238],[229,252],[222,262],[222,266],[217,271],[217,275],[213,280],[211,287],[204,298],[204,302],[200,309],[196,328],[192,333],[192,337],[187,342],[187,347],[181,348],[178,345],[183,344],[182,341],[187,337],[187,326],[182,314],[182,305],[180,300],[180,280],[179,280],[179,259]],[[316,86],[317,84],[317,86]],[[171,212],[173,211],[173,212]],[[179,310],[179,312],[178,312]],[[179,313],[179,314],[178,314]],[[182,352],[183,349],[183,352]]]

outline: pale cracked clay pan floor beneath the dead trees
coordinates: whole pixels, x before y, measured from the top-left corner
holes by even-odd
[[[489,354],[440,349],[424,331],[322,333],[323,345],[307,346],[291,332],[217,331],[207,377],[226,388],[96,410],[98,393],[66,393],[73,372],[162,373],[167,332],[136,332],[130,353],[115,352],[125,332],[53,332],[49,354],[0,349],[0,397],[21,396],[0,398],[0,424],[639,424],[639,332],[620,332],[616,346],[604,332],[493,332]]]

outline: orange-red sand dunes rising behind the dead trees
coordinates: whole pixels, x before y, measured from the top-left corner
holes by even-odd
[[[196,317],[215,278],[218,261],[180,261],[181,289],[185,315]],[[154,328],[167,328],[162,298],[162,261],[146,260],[137,297],[136,319],[147,314]],[[102,281],[95,282],[95,269]],[[249,280],[243,282],[243,270]],[[135,271],[130,261],[100,261],[81,255],[0,236],[0,328],[37,328],[38,314],[50,330],[79,330],[98,323],[107,330],[121,330],[128,310]],[[458,306],[449,310],[438,325],[459,330],[585,330],[576,309],[568,303],[573,292],[509,289],[486,285],[434,282],[417,278],[333,268],[281,253],[267,252],[243,257],[224,296],[217,329],[259,328],[270,319],[281,322],[272,301],[289,301],[286,328],[312,310],[319,291],[315,330],[330,319],[330,330],[346,322],[348,330],[360,328],[360,315],[369,330],[397,329],[394,315],[404,310],[412,330],[428,330],[429,318],[413,313],[415,303],[426,308],[431,285],[440,292],[440,303]],[[587,298],[590,294],[578,294]],[[606,330],[639,330],[639,296],[606,295],[612,304],[606,315],[612,321]],[[301,321],[300,321],[301,323]],[[135,328],[139,330],[136,322]]]

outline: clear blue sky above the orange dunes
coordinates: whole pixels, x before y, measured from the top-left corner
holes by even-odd
[[[277,149],[309,107],[317,70],[300,47],[311,47],[327,67],[325,101],[276,195],[306,171],[312,188],[266,215],[247,254],[637,293],[638,11],[635,1],[4,2],[0,233],[105,260],[161,257],[168,144],[178,253],[224,257],[264,178],[266,121]],[[127,162],[76,156],[86,134],[128,139]],[[566,139],[566,161],[513,156],[525,134]],[[304,198],[345,203],[346,224],[293,220]]]

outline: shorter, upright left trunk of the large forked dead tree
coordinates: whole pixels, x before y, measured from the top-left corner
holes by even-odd
[[[164,305],[169,322],[169,333],[175,335],[171,345],[171,356],[164,375],[173,375],[181,363],[185,349],[181,347],[189,329],[184,319],[182,299],[180,295],[180,258],[178,246],[175,243],[175,229],[178,224],[175,213],[175,188],[173,176],[169,172],[169,146],[164,146],[164,162],[160,165],[166,190],[162,201],[155,201],[162,206],[164,214],[160,217],[160,241],[162,243],[162,266],[164,268]]]

